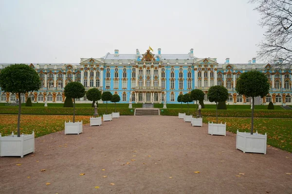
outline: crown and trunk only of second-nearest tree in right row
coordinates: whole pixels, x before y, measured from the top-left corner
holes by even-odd
[[[218,102],[227,100],[228,90],[224,86],[214,85],[209,88],[207,95],[210,102],[216,102],[216,120],[218,123]]]

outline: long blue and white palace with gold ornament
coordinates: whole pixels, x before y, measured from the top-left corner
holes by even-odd
[[[153,52],[153,50],[152,50]],[[207,99],[209,87],[223,85],[229,91],[227,104],[251,104],[249,97],[238,95],[235,87],[241,73],[251,70],[261,71],[270,81],[270,93],[258,98],[256,104],[292,105],[292,69],[275,69],[270,64],[257,64],[256,58],[248,63],[232,64],[229,58],[224,64],[216,58],[197,58],[193,49],[187,54],[162,54],[158,49],[153,54],[148,49],[141,54],[107,53],[101,58],[81,58],[77,64],[27,64],[36,69],[41,79],[38,91],[22,94],[21,101],[31,97],[35,103],[62,103],[65,100],[64,87],[68,82],[79,81],[86,90],[98,88],[121,97],[120,103],[178,103],[180,94],[193,89],[201,89]],[[279,61],[281,63],[281,59]],[[0,64],[0,70],[11,64]],[[0,89],[0,102],[14,102],[18,97],[4,93]],[[86,96],[77,99],[80,103],[90,103]]]

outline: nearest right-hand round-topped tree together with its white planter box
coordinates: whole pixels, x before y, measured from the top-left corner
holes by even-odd
[[[265,135],[254,134],[254,109],[255,97],[265,97],[270,90],[270,83],[262,72],[249,71],[240,75],[236,83],[236,91],[239,95],[252,97],[252,122],[251,133],[239,132],[236,135],[236,148],[245,152],[263,153],[267,152],[267,133]]]

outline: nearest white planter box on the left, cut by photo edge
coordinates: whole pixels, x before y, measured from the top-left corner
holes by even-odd
[[[1,137],[0,134],[0,156],[20,156],[35,152],[35,132],[29,135],[11,135]]]

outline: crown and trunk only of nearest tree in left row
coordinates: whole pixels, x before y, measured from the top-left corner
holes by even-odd
[[[5,67],[0,72],[0,87],[4,92],[11,92],[20,98],[21,94],[37,91],[40,88],[38,73],[25,64]],[[21,100],[18,100],[17,136],[20,137]]]

